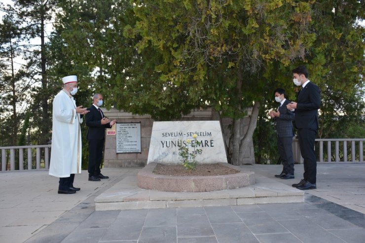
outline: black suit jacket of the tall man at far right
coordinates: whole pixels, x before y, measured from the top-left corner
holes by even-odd
[[[320,89],[312,82],[307,83],[296,98],[295,126],[318,130],[318,108],[320,107]]]

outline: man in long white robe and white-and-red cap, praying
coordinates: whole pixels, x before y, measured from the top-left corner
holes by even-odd
[[[80,188],[73,187],[74,175],[81,173],[80,114],[87,108],[76,106],[73,95],[77,92],[77,77],[62,78],[63,89],[53,100],[52,146],[49,174],[60,177],[58,193],[73,194]]]

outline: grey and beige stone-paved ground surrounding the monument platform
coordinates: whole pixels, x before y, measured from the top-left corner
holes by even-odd
[[[281,166],[244,166],[272,177]],[[295,165],[295,179],[303,165]],[[94,199],[140,168],[103,169],[110,179],[75,176],[73,195],[57,194],[46,171],[0,173],[2,243],[348,242],[365,239],[365,164],[319,164],[304,203],[95,211]]]

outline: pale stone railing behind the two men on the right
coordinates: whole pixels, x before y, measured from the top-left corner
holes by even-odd
[[[365,139],[316,139],[318,162],[364,162]],[[292,143],[294,162],[303,163],[298,139]]]

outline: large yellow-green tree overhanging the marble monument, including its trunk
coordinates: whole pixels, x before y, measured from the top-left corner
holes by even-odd
[[[150,68],[163,91],[179,89],[183,95],[159,104],[209,104],[233,118],[229,160],[241,164],[256,127],[266,69],[273,62],[304,60],[314,41],[308,31],[310,3],[140,0],[136,5],[138,21],[127,36],[141,38],[136,47],[142,56],[150,49],[160,54]],[[242,118],[248,106],[254,108],[245,135]],[[176,115],[175,110],[169,107],[165,114]]]

